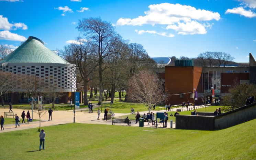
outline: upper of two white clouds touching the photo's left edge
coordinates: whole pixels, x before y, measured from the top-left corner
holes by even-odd
[[[3,17],[3,15],[0,15],[0,30],[16,30],[17,28],[22,28],[23,30],[26,30],[27,25],[25,25],[24,23],[11,24],[9,23],[7,17]]]

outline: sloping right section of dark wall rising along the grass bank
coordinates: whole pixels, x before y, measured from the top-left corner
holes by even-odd
[[[224,129],[256,118],[256,103],[214,117],[214,128]]]

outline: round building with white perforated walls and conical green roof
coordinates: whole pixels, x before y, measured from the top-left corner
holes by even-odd
[[[69,92],[76,89],[76,68],[65,59],[45,47],[44,42],[30,36],[22,45],[0,61],[0,71],[17,75],[29,75],[55,85],[56,92],[67,93],[63,102],[69,99]],[[44,92],[42,89],[41,92]],[[69,93],[69,94],[68,94]],[[6,95],[5,101],[25,103],[28,95],[20,85]]]

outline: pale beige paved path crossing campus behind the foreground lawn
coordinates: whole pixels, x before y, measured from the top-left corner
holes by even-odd
[[[182,107],[180,107],[182,108]],[[192,108],[192,107],[190,107]],[[175,108],[179,109],[179,108]],[[9,108],[8,109],[0,109],[0,115],[4,116],[4,112],[9,112]],[[21,115],[22,110],[21,109],[13,109],[14,114],[17,114],[19,117]],[[25,110],[25,113],[27,112],[27,110]],[[30,114],[31,114],[31,110],[30,110]],[[146,114],[148,111],[143,111],[140,112],[140,114]],[[165,112],[165,110],[153,110],[153,113],[156,112]],[[121,113],[115,113],[116,117],[120,117],[120,116],[124,116],[124,115],[129,115],[130,113],[127,114],[121,114]],[[32,115],[32,114],[31,114]],[[52,121],[48,121],[48,112],[46,112],[45,115],[43,115],[43,117],[41,118],[41,126],[48,126],[48,125],[58,125],[58,124],[66,124],[66,123],[73,123],[74,121],[74,112],[73,111],[54,111],[52,114],[53,120]],[[8,118],[12,118],[12,116],[8,116]],[[21,117],[20,117],[21,118]],[[38,115],[34,112],[33,114],[33,118],[34,119],[39,119]],[[77,123],[88,123],[88,124],[107,124],[107,125],[112,125],[112,120],[108,120],[108,121],[104,121],[102,120],[104,118],[104,114],[101,113],[100,114],[100,120],[97,120],[98,115],[97,112],[94,113],[88,113],[88,112],[76,112],[75,113],[75,122]],[[152,125],[147,125],[147,122],[144,122],[144,127],[152,127]],[[116,123],[115,125],[123,125],[123,126],[127,126],[126,124],[119,124]],[[135,121],[132,121],[132,126],[138,126],[138,123],[135,124]],[[0,133],[3,132],[10,132],[10,131],[16,131],[16,130],[23,130],[23,129],[30,129],[30,128],[37,128],[39,127],[39,121],[34,121],[34,122],[30,122],[29,124],[25,123],[22,124],[20,123],[20,127],[15,128],[15,124],[4,124],[4,130],[0,131]],[[170,128],[170,124],[168,124],[168,128]],[[175,123],[173,124],[173,128],[175,128]]]

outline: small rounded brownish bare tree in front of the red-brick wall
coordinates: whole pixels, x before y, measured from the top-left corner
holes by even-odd
[[[132,76],[127,95],[131,101],[148,105],[149,113],[151,104],[162,103],[166,97],[163,81],[149,70],[139,71]]]

